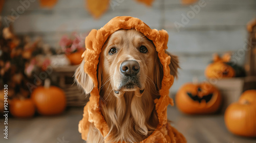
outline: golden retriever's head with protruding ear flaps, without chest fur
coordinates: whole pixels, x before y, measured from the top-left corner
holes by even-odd
[[[177,56],[165,53],[171,57],[170,74],[177,76]],[[75,79],[86,93],[90,93],[94,84],[84,73],[83,65],[84,61],[76,69]],[[97,72],[99,89],[108,86],[116,97],[125,91],[135,91],[140,97],[147,87],[156,91],[161,88],[163,78],[155,45],[136,30],[119,30],[110,35],[102,46]]]

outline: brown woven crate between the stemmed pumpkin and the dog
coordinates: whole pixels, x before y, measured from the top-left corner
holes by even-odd
[[[67,106],[84,106],[89,101],[89,96],[74,82],[77,67],[78,65],[54,66],[51,74],[52,82],[65,91]]]

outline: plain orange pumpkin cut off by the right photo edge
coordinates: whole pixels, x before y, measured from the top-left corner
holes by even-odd
[[[227,129],[236,135],[256,137],[256,90],[245,91],[224,115]]]

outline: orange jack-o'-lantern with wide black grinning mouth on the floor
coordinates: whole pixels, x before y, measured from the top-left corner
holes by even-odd
[[[209,83],[187,83],[176,94],[176,105],[186,114],[216,112],[221,105],[220,91]]]

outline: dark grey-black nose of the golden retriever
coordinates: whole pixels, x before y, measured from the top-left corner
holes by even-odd
[[[140,71],[140,65],[136,61],[124,61],[120,66],[120,71],[125,76],[135,76]]]

